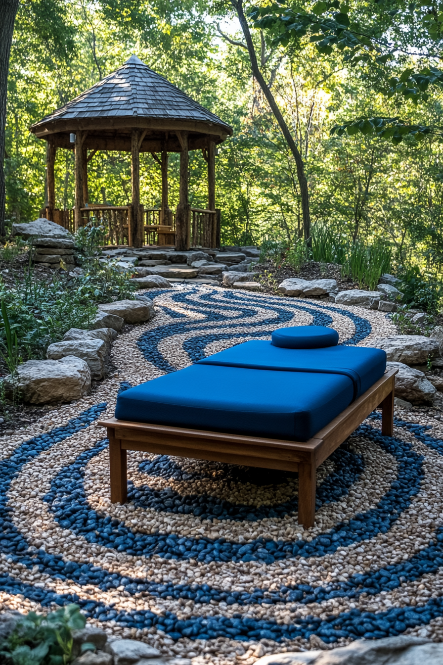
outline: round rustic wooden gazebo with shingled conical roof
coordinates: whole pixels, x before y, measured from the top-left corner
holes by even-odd
[[[232,136],[232,128],[163,76],[132,55],[124,65],[31,127],[48,142],[46,151],[47,219],[78,229],[101,219],[110,243],[217,247],[220,211],[215,207],[215,146]],[[55,207],[54,162],[57,148],[75,154],[75,205]],[[98,150],[131,153],[130,205],[99,205],[88,201],[88,162]],[[189,150],[202,150],[208,170],[208,206],[189,205]],[[161,167],[161,207],[145,209],[140,202],[140,152],[150,152]],[[179,205],[173,215],[168,203],[168,153],[180,153]],[[175,219],[174,219],[175,217]],[[175,229],[174,229],[175,221]]]

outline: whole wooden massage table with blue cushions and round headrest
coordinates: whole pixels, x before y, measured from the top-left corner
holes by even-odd
[[[316,469],[377,407],[393,435],[397,370],[379,348],[322,326],[278,329],[120,393],[102,420],[112,503],[127,500],[126,452],[298,471],[298,521],[315,519]]]

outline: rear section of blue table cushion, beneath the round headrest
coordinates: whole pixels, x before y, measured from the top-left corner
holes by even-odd
[[[312,326],[313,327],[313,326]],[[386,369],[386,352],[365,346],[325,348],[279,348],[271,342],[251,340],[199,360],[197,364],[235,366],[315,374],[344,374],[353,382],[356,399],[366,392]],[[301,379],[300,379],[301,380]],[[323,378],[317,377],[317,381]]]

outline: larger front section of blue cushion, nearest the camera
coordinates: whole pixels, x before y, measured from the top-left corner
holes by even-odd
[[[352,398],[353,382],[343,374],[319,376],[199,362],[122,392],[116,418],[306,441]]]

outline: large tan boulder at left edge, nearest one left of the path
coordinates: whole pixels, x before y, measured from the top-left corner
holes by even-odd
[[[72,402],[90,391],[91,372],[84,360],[74,356],[28,360],[17,368],[17,388],[23,400],[31,404]],[[5,390],[12,389],[11,377],[7,376]]]

